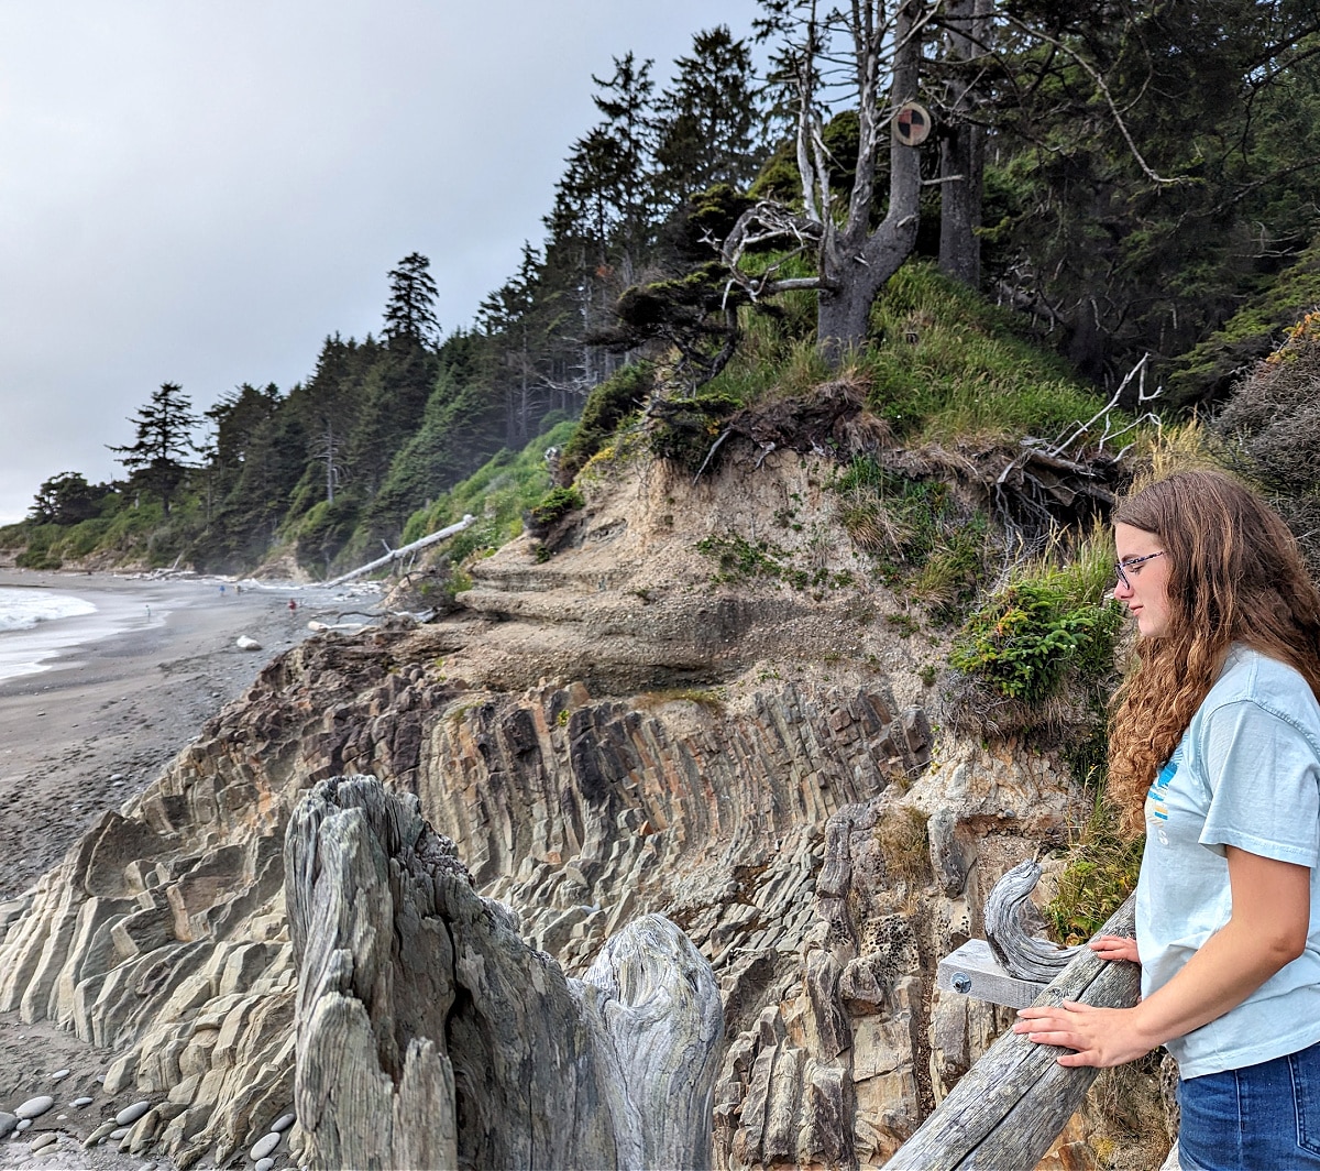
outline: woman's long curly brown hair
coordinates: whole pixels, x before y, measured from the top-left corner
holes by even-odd
[[[1177,747],[1232,643],[1295,667],[1320,698],[1320,591],[1287,525],[1218,471],[1179,471],[1125,500],[1115,524],[1152,533],[1168,561],[1168,631],[1139,639],[1114,697],[1109,793],[1125,829]]]

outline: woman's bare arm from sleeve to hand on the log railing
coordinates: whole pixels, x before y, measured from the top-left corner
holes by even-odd
[[[1233,914],[1168,984],[1133,1009],[1068,1001],[1022,1009],[1014,1032],[1073,1050],[1060,1065],[1119,1065],[1242,1003],[1302,954],[1311,925],[1311,871],[1226,846]]]

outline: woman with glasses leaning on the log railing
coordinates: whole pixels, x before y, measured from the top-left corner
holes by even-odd
[[[1177,1059],[1184,1168],[1320,1167],[1320,594],[1291,533],[1226,475],[1152,483],[1115,516],[1137,619],[1110,793],[1146,829],[1133,1009],[1023,1009],[1015,1032],[1118,1065]],[[1139,957],[1139,958],[1138,958]]]

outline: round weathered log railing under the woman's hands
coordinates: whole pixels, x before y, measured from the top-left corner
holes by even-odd
[[[1131,898],[1101,931],[1133,933]],[[1100,960],[1084,948],[1035,1003],[1130,1007],[1139,990],[1135,964]],[[1015,1032],[1003,1034],[886,1166],[895,1171],[1034,1167],[1098,1072],[1059,1065],[1055,1059],[1061,1052]]]

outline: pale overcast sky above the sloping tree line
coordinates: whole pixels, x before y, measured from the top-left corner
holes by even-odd
[[[432,257],[470,325],[540,243],[591,74],[755,0],[0,0],[0,523],[162,382],[201,412],[379,333]]]

